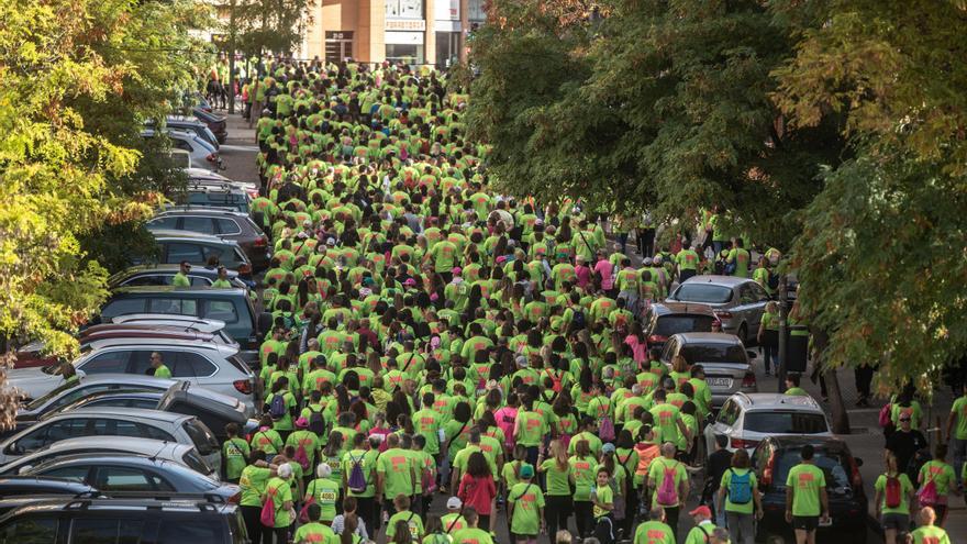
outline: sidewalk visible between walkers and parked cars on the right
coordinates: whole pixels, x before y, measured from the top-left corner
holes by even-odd
[[[754,359],[754,365],[762,366],[762,358]],[[856,402],[856,385],[852,370],[840,370],[840,389],[844,397],[847,413],[849,414],[849,426],[852,434],[840,435],[840,438],[846,442],[851,452],[855,457],[863,459],[863,466],[859,467],[859,474],[863,476],[863,487],[866,496],[869,498],[869,515],[870,522],[875,524],[879,531],[879,523],[872,517],[876,512],[874,497],[876,490],[874,485],[877,477],[882,474],[883,469],[883,446],[886,438],[879,426],[879,412],[886,403],[885,399],[871,399],[869,408],[855,408]],[[758,368],[756,371],[759,391],[777,391],[778,379],[775,377],[766,378]],[[812,381],[803,376],[801,386],[810,395],[823,406],[826,413],[831,413],[830,403],[822,402],[819,384],[813,385]],[[947,414],[951,412],[954,397],[949,389],[937,391],[934,393],[933,404],[922,402],[924,422],[927,429],[936,426],[936,419],[941,419],[942,429],[946,425]],[[923,434],[930,441],[931,448],[937,443],[937,433],[924,431]],[[947,458],[947,463],[953,464],[952,458]],[[916,482],[913,482],[916,485]],[[944,529],[951,536],[953,544],[967,544],[967,507],[964,504],[964,497],[951,496],[948,499],[947,521]]]

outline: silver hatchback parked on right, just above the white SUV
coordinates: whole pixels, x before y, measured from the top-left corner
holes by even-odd
[[[702,365],[705,382],[712,391],[712,408],[719,408],[730,396],[758,391],[755,373],[749,357],[738,336],[726,333],[679,333],[673,334],[665,343],[662,362],[671,366],[676,355],[681,355],[690,365]]]

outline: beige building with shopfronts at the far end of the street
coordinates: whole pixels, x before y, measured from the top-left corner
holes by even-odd
[[[449,66],[466,59],[484,0],[319,0],[299,57]]]

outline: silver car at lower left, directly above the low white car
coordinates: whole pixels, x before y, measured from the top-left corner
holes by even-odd
[[[135,408],[85,408],[55,413],[0,443],[0,465],[55,442],[82,436],[134,436],[194,446],[211,467],[220,467],[221,444],[192,415]]]

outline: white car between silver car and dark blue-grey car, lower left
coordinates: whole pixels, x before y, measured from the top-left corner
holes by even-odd
[[[36,466],[71,455],[131,454],[178,463],[214,480],[219,467],[211,467],[194,446],[134,436],[85,436],[55,442],[47,447],[24,455],[0,466],[0,476],[30,474]]]

